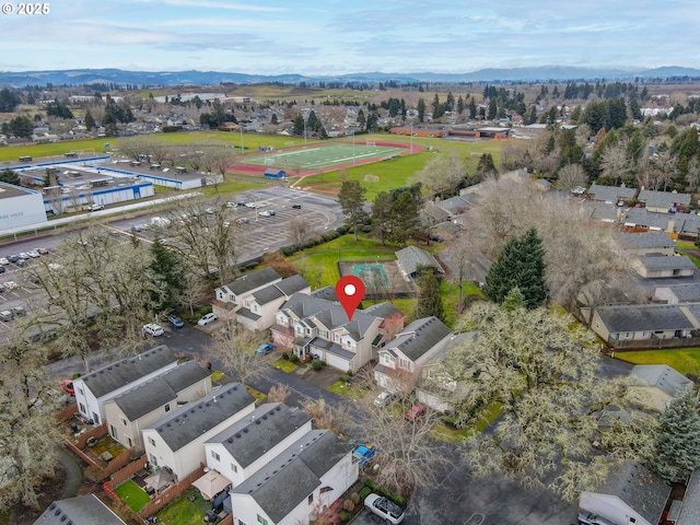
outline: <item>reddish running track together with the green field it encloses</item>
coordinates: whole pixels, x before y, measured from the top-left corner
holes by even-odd
[[[413,147],[413,152],[422,151]],[[340,170],[410,154],[407,144],[390,142],[335,142],[296,147],[284,150],[265,150],[237,159],[235,171],[255,174],[268,168],[284,170],[288,175],[311,175]]]

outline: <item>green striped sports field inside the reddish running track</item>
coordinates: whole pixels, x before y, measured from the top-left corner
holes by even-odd
[[[310,145],[284,151],[269,151],[260,155],[241,159],[244,164],[256,166],[275,166],[295,170],[318,170],[322,167],[339,167],[364,163],[370,159],[386,159],[406,153],[405,148],[385,145],[366,145],[336,143],[327,145]]]

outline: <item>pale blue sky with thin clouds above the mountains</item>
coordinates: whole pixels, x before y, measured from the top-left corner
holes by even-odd
[[[697,0],[51,0],[33,15],[0,3],[3,71],[700,67]]]

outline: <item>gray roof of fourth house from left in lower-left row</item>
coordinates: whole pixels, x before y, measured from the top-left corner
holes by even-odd
[[[266,402],[207,443],[221,443],[246,468],[308,421],[311,415],[304,410]]]

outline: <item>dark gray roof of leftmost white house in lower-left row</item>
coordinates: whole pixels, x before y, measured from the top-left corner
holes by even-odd
[[[122,359],[95,370],[80,380],[100,398],[176,361],[171,349],[161,345],[135,358]]]

